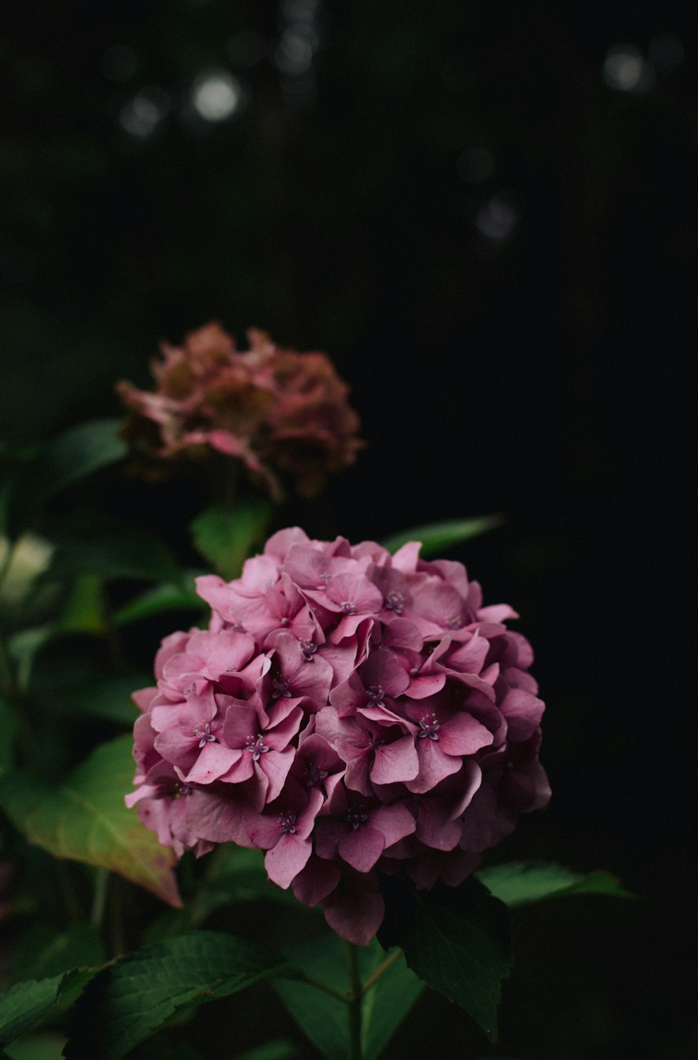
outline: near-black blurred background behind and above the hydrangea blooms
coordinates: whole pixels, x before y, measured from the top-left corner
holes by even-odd
[[[219,318],[329,352],[363,418],[355,467],[284,522],[506,513],[453,554],[522,614],[554,798],[496,856],[643,896],[517,916],[500,1052],[525,1060],[698,1049],[691,13],[70,0],[0,23],[2,437],[115,414],[117,378]],[[226,120],[196,109],[207,77]],[[460,1056],[465,1022],[422,1001],[395,1055]]]

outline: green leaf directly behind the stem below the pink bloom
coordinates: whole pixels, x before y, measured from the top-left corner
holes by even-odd
[[[285,953],[313,978],[345,992],[347,943],[335,934],[320,935],[290,947]],[[359,950],[359,969],[365,982],[385,960],[373,939]],[[300,980],[278,979],[274,989],[303,1034],[327,1060],[345,1060],[348,1034],[346,1002]],[[409,971],[404,957],[391,965],[362,1000],[362,1056],[377,1060],[417,1001],[423,984]]]

